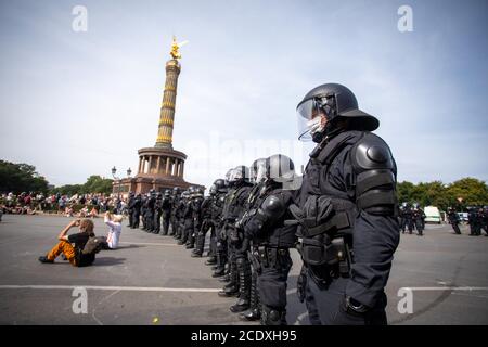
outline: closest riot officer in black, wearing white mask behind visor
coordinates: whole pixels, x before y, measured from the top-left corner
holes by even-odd
[[[319,86],[297,106],[318,143],[310,153],[298,206],[305,298],[312,324],[386,324],[386,295],[399,243],[397,168],[388,145],[371,131],[378,120],[352,92]],[[301,290],[298,290],[301,293]]]

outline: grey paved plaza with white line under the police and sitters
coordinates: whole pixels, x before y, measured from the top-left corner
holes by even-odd
[[[171,236],[125,227],[120,248],[102,250],[92,267],[73,268],[61,258],[40,264],[69,220],[3,216],[0,324],[256,324],[229,311],[236,298],[219,297],[222,283],[205,258],[191,258]],[[105,234],[101,218],[94,221],[95,233]],[[427,226],[422,237],[401,236],[387,286],[390,324],[488,324],[488,237],[468,236],[465,226],[462,232],[441,224]],[[296,297],[301,261],[295,250],[292,256],[287,321],[309,324]],[[87,290],[87,313],[73,311],[77,287]],[[412,313],[398,310],[403,287],[411,288]]]

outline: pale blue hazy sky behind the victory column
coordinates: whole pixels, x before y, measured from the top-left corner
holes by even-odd
[[[374,5],[373,5],[374,3]],[[75,5],[88,30],[75,33]],[[413,31],[400,33],[400,5]],[[56,185],[136,170],[154,144],[171,36],[185,179],[282,152],[306,164],[296,104],[348,86],[398,179],[488,180],[487,1],[0,1],[0,158]],[[123,174],[120,172],[120,174]]]

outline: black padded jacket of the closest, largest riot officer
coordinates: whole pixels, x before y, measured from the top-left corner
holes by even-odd
[[[320,226],[300,228],[301,246],[344,236],[354,255],[346,295],[369,307],[384,295],[399,243],[396,174],[391,152],[380,137],[347,130],[311,152],[299,192],[303,209],[313,197],[330,204],[319,208],[326,216]]]

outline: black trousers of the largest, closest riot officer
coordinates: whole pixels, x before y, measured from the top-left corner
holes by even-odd
[[[322,325],[386,325],[386,295],[376,307],[363,314],[346,312],[344,298],[349,279],[334,279],[329,286],[321,287],[307,274],[306,304],[311,324]],[[313,321],[312,321],[313,320]]]

